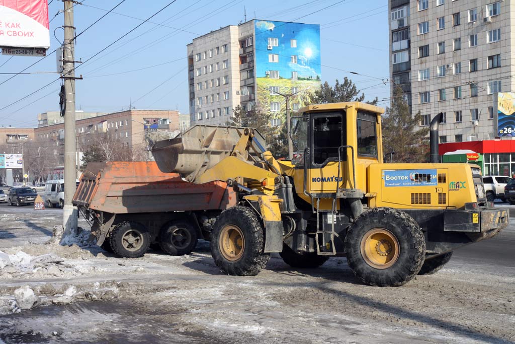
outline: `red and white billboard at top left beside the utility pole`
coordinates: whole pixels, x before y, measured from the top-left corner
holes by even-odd
[[[50,47],[47,0],[0,0],[0,47]]]

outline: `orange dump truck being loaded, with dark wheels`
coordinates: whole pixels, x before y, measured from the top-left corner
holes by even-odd
[[[73,197],[97,244],[128,258],[143,256],[150,244],[172,255],[190,253],[235,203],[226,183],[188,183],[153,161],[91,162]]]

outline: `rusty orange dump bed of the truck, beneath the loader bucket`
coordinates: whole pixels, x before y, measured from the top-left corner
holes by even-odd
[[[111,214],[226,209],[235,203],[224,182],[195,185],[163,173],[154,161],[89,163],[75,206]]]

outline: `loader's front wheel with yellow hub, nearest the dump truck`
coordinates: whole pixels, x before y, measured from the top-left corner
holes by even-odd
[[[265,234],[252,209],[236,206],[222,211],[211,231],[211,255],[223,273],[255,276],[270,259]]]

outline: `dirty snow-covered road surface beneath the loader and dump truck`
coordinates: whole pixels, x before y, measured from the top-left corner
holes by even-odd
[[[60,216],[60,209],[0,205],[0,343],[515,338],[515,260],[510,266],[509,258],[507,264],[495,258],[512,256],[507,248],[515,242],[513,225],[470,251],[457,250],[437,274],[377,288],[359,284],[345,258],[331,258],[318,269],[293,269],[273,254],[258,276],[236,277],[220,274],[205,241],[191,255],[150,251],[137,259],[83,242],[44,244]],[[492,245],[499,252],[492,253]]]

